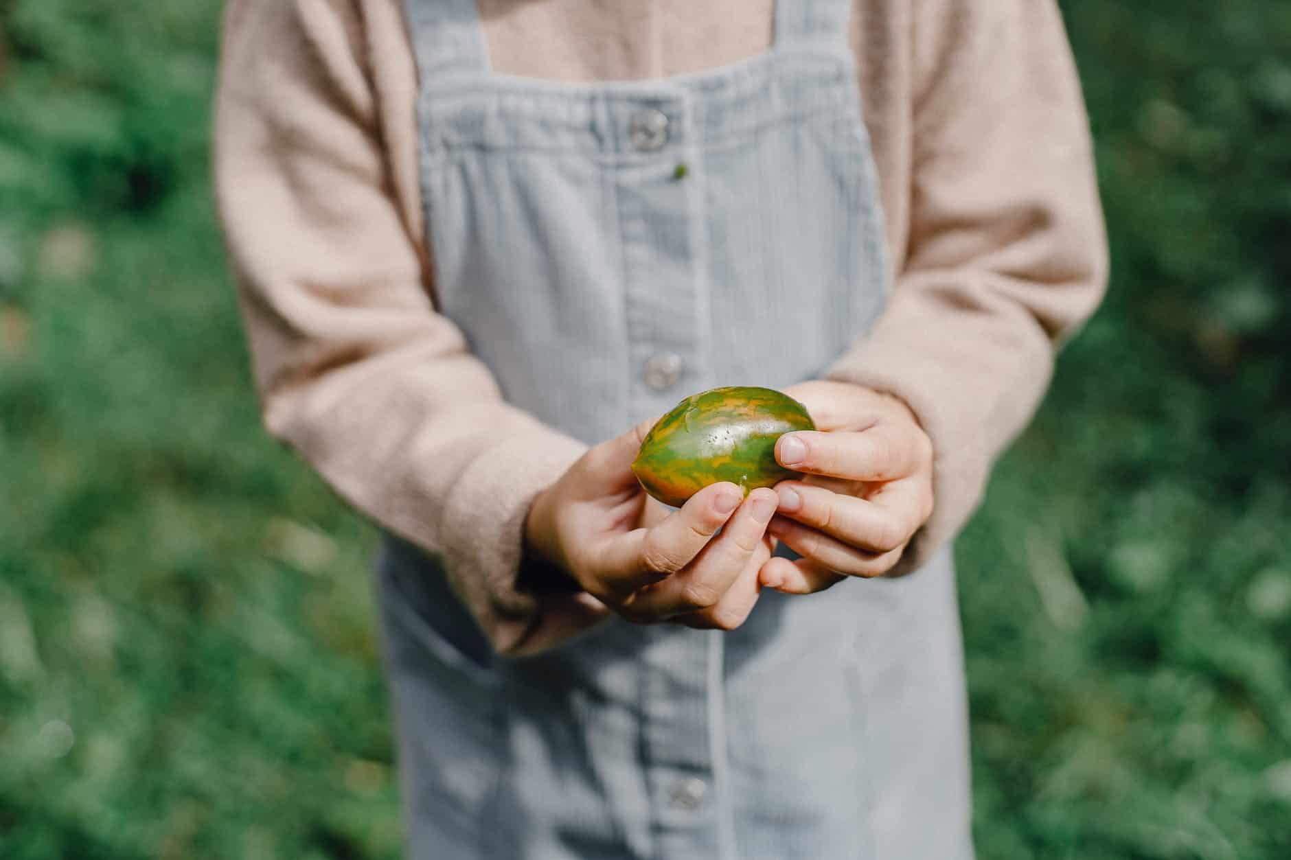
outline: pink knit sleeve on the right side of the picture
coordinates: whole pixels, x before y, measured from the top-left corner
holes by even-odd
[[[1106,278],[1056,5],[933,0],[913,15],[909,243],[887,311],[826,374],[896,394],[932,438],[935,510],[893,575],[968,519]]]

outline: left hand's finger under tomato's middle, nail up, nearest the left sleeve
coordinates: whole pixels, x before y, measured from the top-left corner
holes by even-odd
[[[630,594],[676,573],[707,545],[731,518],[744,492],[731,482],[705,487],[653,528],[615,537],[596,562],[612,594]]]

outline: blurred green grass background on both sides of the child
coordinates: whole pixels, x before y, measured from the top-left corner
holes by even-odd
[[[394,857],[374,531],[261,430],[217,0],[0,1],[0,856]],[[979,854],[1291,857],[1291,4],[1064,4],[1105,306],[959,544]]]

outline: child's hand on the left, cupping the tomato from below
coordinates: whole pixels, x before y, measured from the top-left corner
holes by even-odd
[[[629,621],[733,630],[758,600],[776,492],[755,489],[741,504],[740,487],[719,483],[669,513],[630,469],[653,424],[590,449],[540,493],[527,549]]]

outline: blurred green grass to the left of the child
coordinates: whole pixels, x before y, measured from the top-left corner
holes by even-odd
[[[0,857],[381,857],[371,529],[258,426],[209,189],[218,4],[9,8]]]

